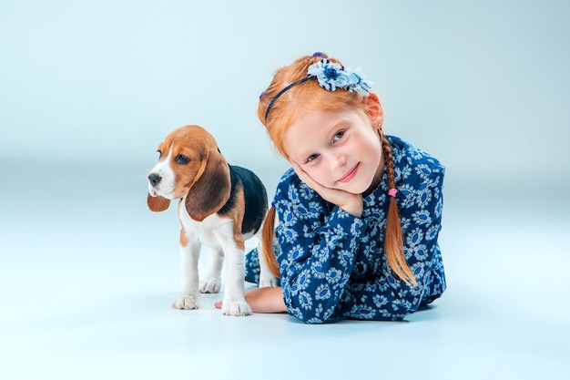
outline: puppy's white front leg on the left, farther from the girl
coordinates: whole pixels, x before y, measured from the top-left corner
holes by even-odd
[[[175,309],[198,309],[198,258],[200,253],[199,241],[188,241],[186,245],[180,244],[180,292],[172,307]]]

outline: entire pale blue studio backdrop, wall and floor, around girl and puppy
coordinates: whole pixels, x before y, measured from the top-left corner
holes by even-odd
[[[565,378],[569,11],[0,1],[0,377]],[[158,143],[202,125],[272,195],[288,165],[258,96],[315,51],[361,67],[385,131],[447,167],[448,290],[409,324],[229,318],[217,294],[171,310],[179,224],[174,208],[146,207]]]

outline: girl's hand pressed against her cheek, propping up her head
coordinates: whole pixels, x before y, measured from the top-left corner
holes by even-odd
[[[315,190],[321,195],[323,200],[330,201],[339,206],[342,210],[354,215],[357,218],[362,216],[362,194],[353,194],[348,191],[331,189],[321,185],[321,183],[313,180],[310,175],[303,170],[295,161],[290,161],[293,170],[299,176],[300,180],[305,182],[310,189]]]

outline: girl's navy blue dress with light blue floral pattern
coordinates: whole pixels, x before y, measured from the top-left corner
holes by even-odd
[[[420,149],[392,136],[404,254],[417,286],[392,275],[383,252],[388,185],[363,199],[361,218],[323,200],[293,169],[282,176],[274,204],[280,224],[276,254],[283,299],[308,324],[341,318],[402,320],[445,290],[442,255],[444,168]],[[257,252],[246,257],[246,280],[257,282]]]

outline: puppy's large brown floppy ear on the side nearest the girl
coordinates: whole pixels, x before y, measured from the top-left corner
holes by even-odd
[[[228,162],[218,150],[203,158],[194,186],[186,196],[186,210],[194,221],[203,221],[229,200],[231,180]]]

